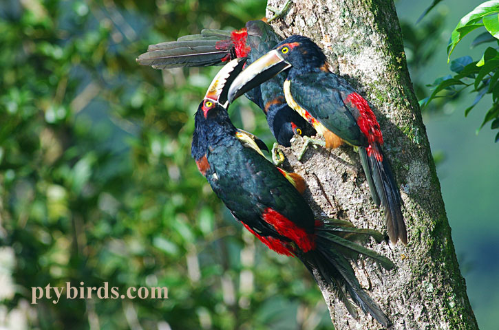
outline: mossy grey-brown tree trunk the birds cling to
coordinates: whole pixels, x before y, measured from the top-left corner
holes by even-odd
[[[284,2],[269,0],[268,5],[280,8]],[[393,1],[295,1],[273,27],[283,36],[303,34],[320,45],[339,74],[374,105],[381,124],[385,155],[401,190],[409,243],[368,242],[397,267],[386,272],[363,261],[356,269],[361,285],[392,320],[392,329],[478,329],[407,71]],[[298,162],[295,154],[300,148],[297,140],[285,149],[285,167],[306,178],[307,197],[318,216],[385,231],[383,212],[372,202],[359,155],[352,148],[310,148]],[[336,329],[382,328],[361,311],[358,320],[352,318],[334,292],[320,286]]]

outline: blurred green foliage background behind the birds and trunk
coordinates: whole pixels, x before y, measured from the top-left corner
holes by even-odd
[[[429,3],[397,3],[419,98],[448,72],[448,36],[480,3],[469,2],[456,12],[439,4],[418,25]],[[330,329],[304,267],[243,231],[190,157],[193,113],[217,68],[158,72],[135,63],[151,43],[241,28],[263,17],[265,5],[3,1],[0,327]],[[499,157],[489,131],[473,134],[485,113],[480,104],[463,122],[462,103],[457,96],[432,102],[425,118],[471,303],[482,329],[493,329]],[[248,101],[231,107],[231,117],[272,144],[264,116]],[[30,305],[31,287],[67,281],[167,286],[169,299]]]

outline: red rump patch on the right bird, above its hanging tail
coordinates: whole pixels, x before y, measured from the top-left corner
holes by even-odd
[[[376,116],[369,107],[368,101],[364,100],[358,93],[352,93],[347,96],[346,102],[350,102],[354,107],[359,109],[360,115],[357,118],[357,124],[361,132],[368,137],[369,146],[366,148],[368,156],[374,153],[379,162],[383,161],[383,155],[381,155],[376,146],[376,143],[383,144],[383,134],[381,133]]]

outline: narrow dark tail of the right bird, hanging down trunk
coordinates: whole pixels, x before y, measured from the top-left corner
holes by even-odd
[[[383,155],[381,146],[376,144],[373,149],[376,149],[376,152],[368,156],[365,148],[359,148],[362,167],[365,177],[368,179],[372,199],[377,206],[381,203],[385,210],[386,228],[390,241],[396,243],[400,239],[402,243],[407,244],[407,230],[401,211],[401,197],[392,168]],[[381,162],[376,159],[376,153],[381,155],[383,159]]]

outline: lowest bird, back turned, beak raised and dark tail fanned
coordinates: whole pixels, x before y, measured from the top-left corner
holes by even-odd
[[[191,155],[215,194],[231,213],[271,250],[297,256],[307,269],[336,289],[348,311],[356,311],[346,296],[382,325],[391,324],[361,288],[349,260],[362,254],[385,269],[394,267],[384,256],[354,243],[359,236],[382,236],[354,228],[347,221],[319,221],[286,173],[262,155],[254,135],[235,128],[226,111],[227,91],[244,60],[228,63],[213,79],[195,113]]]

